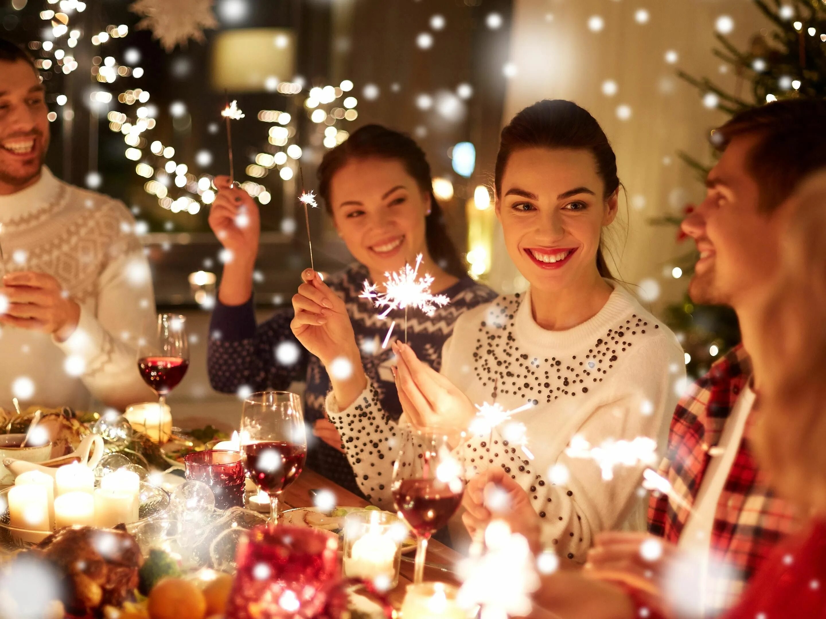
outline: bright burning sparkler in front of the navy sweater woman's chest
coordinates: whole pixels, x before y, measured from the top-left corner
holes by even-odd
[[[377,284],[364,281],[364,289],[359,295],[362,299],[373,301],[376,307],[387,307],[379,318],[387,318],[393,309],[405,310],[405,343],[407,343],[407,309],[420,309],[425,315],[433,316],[437,307],[444,307],[450,303],[445,295],[434,295],[430,292],[434,278],[430,273],[419,277],[422,255],[415,258],[415,267],[406,264],[401,271],[386,272],[387,281],[384,282],[384,292],[378,291]],[[392,329],[392,326],[391,326]],[[388,336],[389,338],[389,336]],[[387,338],[386,338],[387,341]]]

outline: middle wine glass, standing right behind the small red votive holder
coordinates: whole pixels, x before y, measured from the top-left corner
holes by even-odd
[[[253,483],[269,495],[269,518],[278,523],[278,497],[304,469],[307,440],[301,398],[261,391],[244,399],[241,461]]]

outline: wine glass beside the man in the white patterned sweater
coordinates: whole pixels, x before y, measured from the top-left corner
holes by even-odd
[[[158,394],[159,423],[164,418],[166,396],[183,380],[188,367],[187,319],[179,314],[158,314],[157,324],[138,343],[138,369]],[[159,437],[160,432],[159,428]]]

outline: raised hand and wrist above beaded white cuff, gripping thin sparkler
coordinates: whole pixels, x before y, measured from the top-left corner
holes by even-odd
[[[330,290],[318,273],[306,269],[304,281],[292,297],[293,335],[318,357],[330,375],[335,397],[342,409],[352,404],[367,386],[367,377],[344,301]]]

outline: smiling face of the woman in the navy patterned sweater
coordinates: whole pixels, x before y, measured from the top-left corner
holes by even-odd
[[[397,271],[427,253],[430,195],[396,159],[353,158],[330,181],[333,221],[370,272]]]

